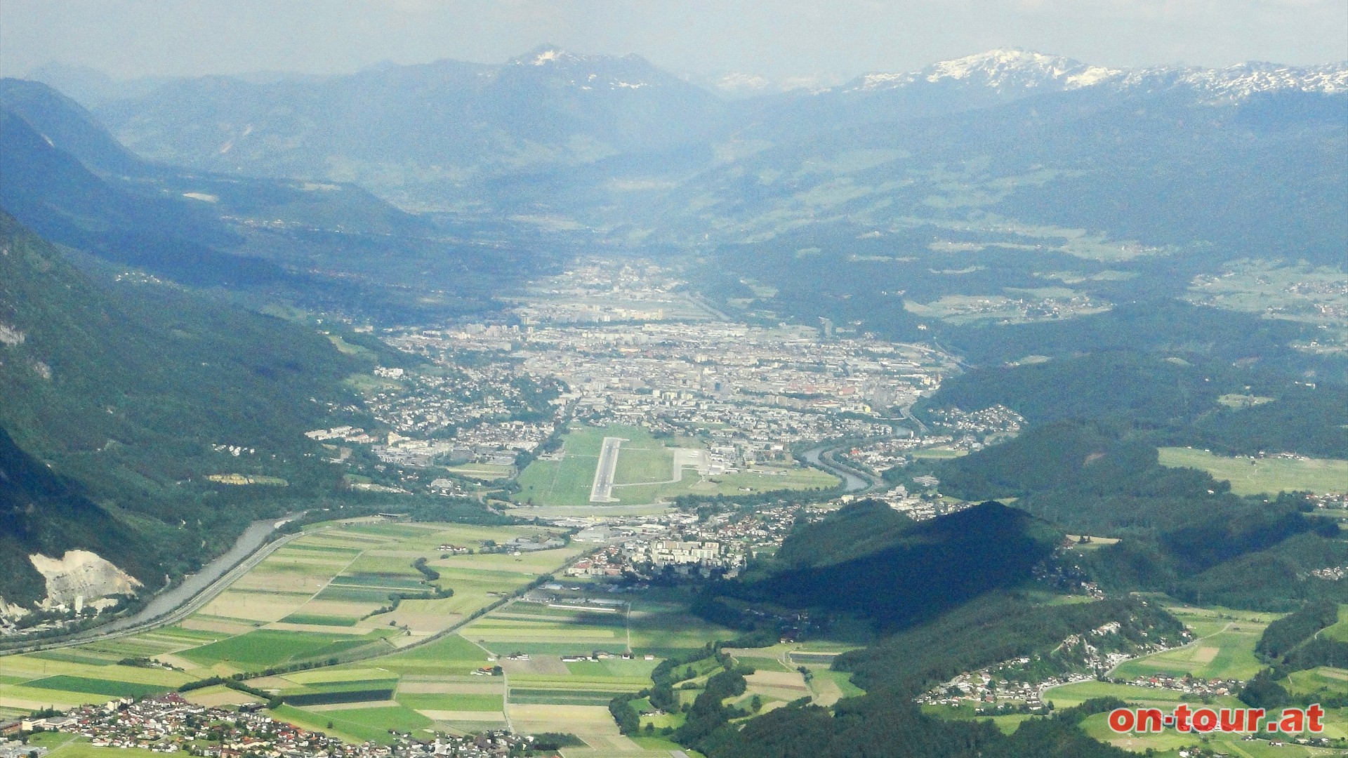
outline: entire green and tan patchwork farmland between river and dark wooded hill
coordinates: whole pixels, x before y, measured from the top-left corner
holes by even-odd
[[[663,655],[733,633],[687,615],[659,591],[607,612],[510,600],[582,548],[515,554],[484,552],[484,542],[550,535],[555,530],[530,526],[310,527],[177,624],[0,658],[0,712],[156,695],[243,673],[249,688],[283,700],[274,718],[356,743],[390,743],[391,730],[430,738],[510,727],[581,736],[586,747],[568,755],[667,757],[677,746],[620,735],[608,701],[650,687]],[[439,549],[448,545],[473,553]],[[419,558],[439,577],[419,571]],[[390,595],[403,599],[392,603]],[[493,604],[500,607],[472,618]],[[185,696],[212,707],[263,701],[222,684]]]

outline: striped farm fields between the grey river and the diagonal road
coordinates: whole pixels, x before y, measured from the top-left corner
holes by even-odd
[[[537,577],[555,571],[584,548],[508,553],[449,554],[443,544],[480,550],[484,541],[539,540],[555,531],[541,527],[483,527],[433,523],[322,525],[257,564],[195,614],[174,626],[121,639],[75,647],[0,657],[0,709],[28,712],[69,708],[116,697],[155,695],[189,681],[232,676],[275,666],[336,662],[353,655],[394,653],[423,642],[461,623]],[[443,556],[443,557],[441,557]],[[429,581],[412,562],[426,558],[439,579]],[[434,597],[435,589],[452,589]],[[392,612],[391,593],[408,597]],[[469,647],[470,661],[460,676],[485,662]],[[154,660],[160,666],[125,665]],[[383,658],[380,658],[383,660]],[[470,665],[469,665],[470,664]],[[167,668],[167,666],[171,666]],[[364,672],[349,681],[317,684],[333,669],[267,677],[260,687],[295,696],[301,704],[345,705],[348,736],[365,738],[365,727],[394,720],[430,726],[415,708],[365,712],[371,701],[391,700],[399,674]],[[338,693],[340,695],[336,695]],[[307,697],[307,696],[317,697]],[[379,697],[376,697],[376,695]],[[251,696],[221,689],[195,691],[193,697],[212,704],[237,704]],[[445,708],[480,709],[483,701],[438,703]],[[434,703],[431,705],[435,705]],[[473,705],[473,708],[468,708]],[[488,703],[487,705],[492,705]],[[495,704],[500,712],[500,704]],[[324,719],[324,723],[338,719]],[[422,720],[426,723],[422,724]],[[387,730],[387,727],[381,727]],[[384,731],[387,735],[387,731]]]

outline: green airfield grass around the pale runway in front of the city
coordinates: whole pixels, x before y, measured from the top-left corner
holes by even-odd
[[[604,437],[623,438],[613,472],[612,496],[617,504],[643,504],[666,500],[685,494],[733,495],[770,490],[825,488],[837,483],[832,475],[813,468],[756,467],[735,473],[700,476],[687,465],[681,467],[681,477],[674,476],[674,460],[679,448],[666,446],[661,440],[636,426],[609,425],[603,429],[576,426],[562,442],[562,460],[535,460],[519,476],[520,503],[538,506],[589,506],[590,486]],[[678,445],[696,445],[679,440]],[[689,448],[692,449],[692,448]]]

